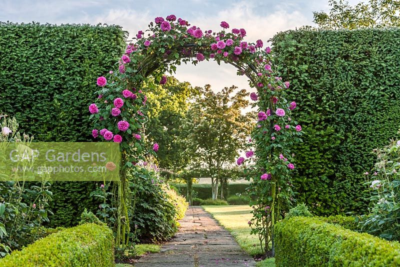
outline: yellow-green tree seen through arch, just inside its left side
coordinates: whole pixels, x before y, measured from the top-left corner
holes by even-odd
[[[168,76],[164,85],[149,83],[144,90],[148,97],[146,135],[159,144],[158,166],[178,172],[189,163],[182,123],[196,88]]]

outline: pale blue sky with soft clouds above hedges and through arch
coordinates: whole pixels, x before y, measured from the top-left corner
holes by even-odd
[[[118,24],[133,36],[154,17],[175,14],[204,30],[219,30],[224,20],[230,28],[244,28],[247,41],[268,43],[277,32],[314,25],[312,11],[320,10],[329,10],[328,0],[0,0],[0,21]],[[233,66],[213,61],[177,66],[175,77],[195,86],[208,83],[215,91],[232,84],[255,90]]]

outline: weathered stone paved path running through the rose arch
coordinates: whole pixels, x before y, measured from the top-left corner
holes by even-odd
[[[200,206],[190,206],[179,222],[179,231],[159,253],[140,257],[134,266],[255,266],[233,236]]]

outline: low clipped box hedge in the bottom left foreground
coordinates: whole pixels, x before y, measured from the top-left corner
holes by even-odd
[[[113,240],[107,226],[86,223],[15,250],[0,259],[0,266],[113,266]]]

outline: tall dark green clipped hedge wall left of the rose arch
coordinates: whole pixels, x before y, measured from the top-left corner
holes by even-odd
[[[96,79],[125,46],[119,26],[0,23],[0,113],[15,115],[36,141],[90,141],[87,106]],[[51,225],[70,226],[93,182],[53,182]]]

